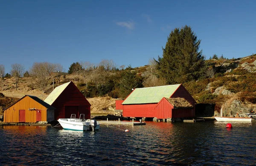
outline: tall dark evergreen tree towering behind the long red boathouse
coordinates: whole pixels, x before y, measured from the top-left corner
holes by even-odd
[[[190,26],[175,28],[162,48],[163,57],[156,60],[158,75],[168,84],[197,80],[206,70],[200,43]]]

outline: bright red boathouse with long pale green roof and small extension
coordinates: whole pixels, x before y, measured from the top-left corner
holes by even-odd
[[[182,84],[137,88],[122,102],[123,116],[157,119],[195,117],[195,103]]]

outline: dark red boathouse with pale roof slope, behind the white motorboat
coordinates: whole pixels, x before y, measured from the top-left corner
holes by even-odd
[[[70,118],[71,114],[76,114],[76,118],[80,114],[90,118],[91,105],[72,81],[56,87],[44,102],[55,107],[55,120]]]

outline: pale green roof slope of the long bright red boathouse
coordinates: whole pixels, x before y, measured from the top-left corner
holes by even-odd
[[[171,97],[179,86],[180,84],[137,88],[134,89],[122,104],[158,103],[163,97]]]

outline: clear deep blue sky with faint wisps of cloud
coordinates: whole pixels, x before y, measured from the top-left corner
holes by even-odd
[[[206,59],[256,53],[255,0],[0,0],[0,64],[148,64],[185,25]]]

